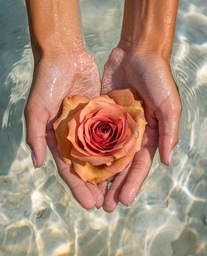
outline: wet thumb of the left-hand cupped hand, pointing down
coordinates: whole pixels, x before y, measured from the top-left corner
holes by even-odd
[[[24,110],[26,121],[26,142],[31,148],[34,168],[43,165],[46,154],[46,123],[48,114],[44,114],[33,104],[27,104]]]

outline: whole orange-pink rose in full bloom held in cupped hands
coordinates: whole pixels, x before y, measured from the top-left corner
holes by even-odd
[[[54,123],[64,162],[86,182],[105,181],[125,169],[141,148],[145,131],[141,102],[130,89],[112,90],[94,99],[65,98]]]

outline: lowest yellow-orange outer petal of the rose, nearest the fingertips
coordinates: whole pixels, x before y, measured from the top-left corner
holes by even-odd
[[[93,184],[97,184],[114,176],[114,173],[106,171],[103,166],[92,166],[74,157],[71,157],[71,159],[74,171],[85,182],[89,181]]]

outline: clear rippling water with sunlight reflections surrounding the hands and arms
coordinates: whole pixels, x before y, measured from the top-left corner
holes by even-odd
[[[123,0],[81,0],[100,71],[120,35]],[[48,152],[34,170],[23,108],[33,60],[23,1],[1,1],[0,255],[207,255],[207,4],[181,0],[172,71],[183,104],[170,168],[153,165],[130,207],[87,212],[56,177]]]

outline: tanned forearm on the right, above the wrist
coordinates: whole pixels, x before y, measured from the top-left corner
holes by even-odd
[[[179,0],[126,0],[119,47],[152,50],[170,59],[178,4]]]

